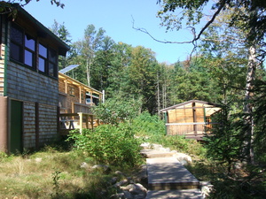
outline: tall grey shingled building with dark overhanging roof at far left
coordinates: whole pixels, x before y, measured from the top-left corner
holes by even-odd
[[[21,152],[59,136],[58,57],[69,46],[18,4],[9,6],[0,15],[0,150]]]

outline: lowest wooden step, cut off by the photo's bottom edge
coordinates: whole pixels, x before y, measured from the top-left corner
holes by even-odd
[[[200,189],[148,191],[145,199],[203,199]]]

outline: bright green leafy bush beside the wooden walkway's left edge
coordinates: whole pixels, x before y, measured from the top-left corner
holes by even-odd
[[[94,131],[85,129],[82,134],[70,134],[68,140],[74,140],[74,149],[85,152],[99,163],[134,166],[141,158],[140,142],[127,123],[102,125]]]

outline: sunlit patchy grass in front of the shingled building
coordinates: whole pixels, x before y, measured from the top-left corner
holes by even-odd
[[[95,164],[86,154],[52,148],[27,156],[1,155],[0,198],[108,198],[115,192],[109,188],[114,174],[90,169]]]

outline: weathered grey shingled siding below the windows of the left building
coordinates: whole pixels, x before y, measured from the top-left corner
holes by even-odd
[[[7,75],[7,96],[24,104],[23,147],[31,149],[55,141],[58,135],[58,80],[12,62],[9,62]],[[35,103],[38,103],[38,116],[35,115]]]

